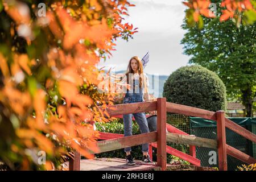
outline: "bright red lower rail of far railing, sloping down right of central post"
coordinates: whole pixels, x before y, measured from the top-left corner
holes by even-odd
[[[152,143],[152,146],[157,148],[158,145],[156,143]],[[196,159],[196,158],[193,158],[193,156],[191,155],[188,155],[188,154],[185,154],[184,152],[181,152],[179,150],[176,150],[175,148],[172,148],[170,146],[166,146],[166,152],[168,154],[171,154],[171,155],[174,155],[174,156],[177,156],[178,158],[180,159],[183,159],[195,166],[200,166],[200,160],[199,159]]]

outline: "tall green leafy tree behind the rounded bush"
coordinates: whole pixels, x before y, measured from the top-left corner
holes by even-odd
[[[221,1],[216,15],[220,17]],[[229,99],[238,99],[246,107],[247,117],[253,115],[256,94],[256,31],[255,24],[240,25],[232,20],[220,22],[219,18],[204,18],[204,26],[182,28],[187,32],[181,40],[184,54],[191,56],[189,63],[199,64],[216,72],[224,82]]]

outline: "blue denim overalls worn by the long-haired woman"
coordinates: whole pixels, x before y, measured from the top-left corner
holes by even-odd
[[[135,102],[144,102],[143,100],[143,88],[139,88],[139,80],[133,80],[133,93],[127,91],[125,97],[123,98],[123,104],[135,103]],[[135,121],[139,125],[139,130],[141,133],[149,133],[147,119],[145,113],[133,113],[133,114],[123,114],[123,125],[125,129],[125,137],[131,136],[133,127],[132,127],[132,117],[134,116]],[[125,152],[130,152],[131,147],[126,147]],[[148,152],[148,143],[142,144],[142,152]]]

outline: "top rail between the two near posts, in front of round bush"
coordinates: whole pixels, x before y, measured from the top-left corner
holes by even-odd
[[[212,119],[216,121],[216,114],[213,111],[175,104],[172,102],[166,102],[166,107],[167,107],[168,113],[184,114],[184,115],[189,115],[193,117]]]

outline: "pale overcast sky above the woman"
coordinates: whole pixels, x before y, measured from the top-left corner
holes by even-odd
[[[126,70],[129,60],[133,56],[143,57],[150,52],[150,62],[144,72],[148,74],[170,75],[181,66],[187,65],[189,57],[183,55],[183,45],[180,44],[184,35],[181,24],[185,16],[186,6],[181,0],[135,0],[129,1],[135,7],[128,8],[130,16],[125,23],[132,23],[138,27],[134,39],[118,39],[117,51],[99,68],[115,68],[115,71]]]

